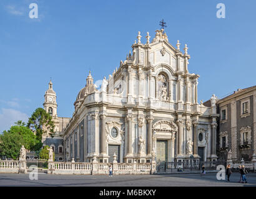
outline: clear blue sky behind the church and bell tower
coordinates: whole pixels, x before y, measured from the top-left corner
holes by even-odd
[[[39,19],[29,18],[29,4]],[[216,17],[225,4],[225,19]],[[189,72],[199,78],[199,101],[256,85],[256,1],[30,1],[0,2],[0,132],[42,107],[52,78],[58,116],[71,117],[76,95],[125,60],[140,30],[145,43],[167,22],[169,42],[189,47]]]

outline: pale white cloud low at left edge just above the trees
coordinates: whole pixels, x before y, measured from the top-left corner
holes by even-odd
[[[26,113],[21,113],[21,111],[2,108],[0,112],[0,133],[4,130],[8,130],[18,120],[22,120],[26,123],[28,118],[29,116],[27,116]]]

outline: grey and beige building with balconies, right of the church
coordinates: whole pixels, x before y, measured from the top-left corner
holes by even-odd
[[[227,160],[256,159],[256,86],[234,91],[217,101],[220,113],[218,155]]]

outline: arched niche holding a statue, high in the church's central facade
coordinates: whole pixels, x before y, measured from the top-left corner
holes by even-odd
[[[164,74],[157,75],[157,98],[161,101],[166,101],[168,98],[168,83]]]

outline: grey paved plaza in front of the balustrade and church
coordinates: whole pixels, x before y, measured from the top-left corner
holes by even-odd
[[[86,187],[256,187],[256,174],[248,174],[249,183],[238,183],[239,174],[232,174],[231,182],[217,180],[216,174],[172,175],[50,175],[38,174],[30,180],[29,174],[0,174],[0,186],[86,186]]]

